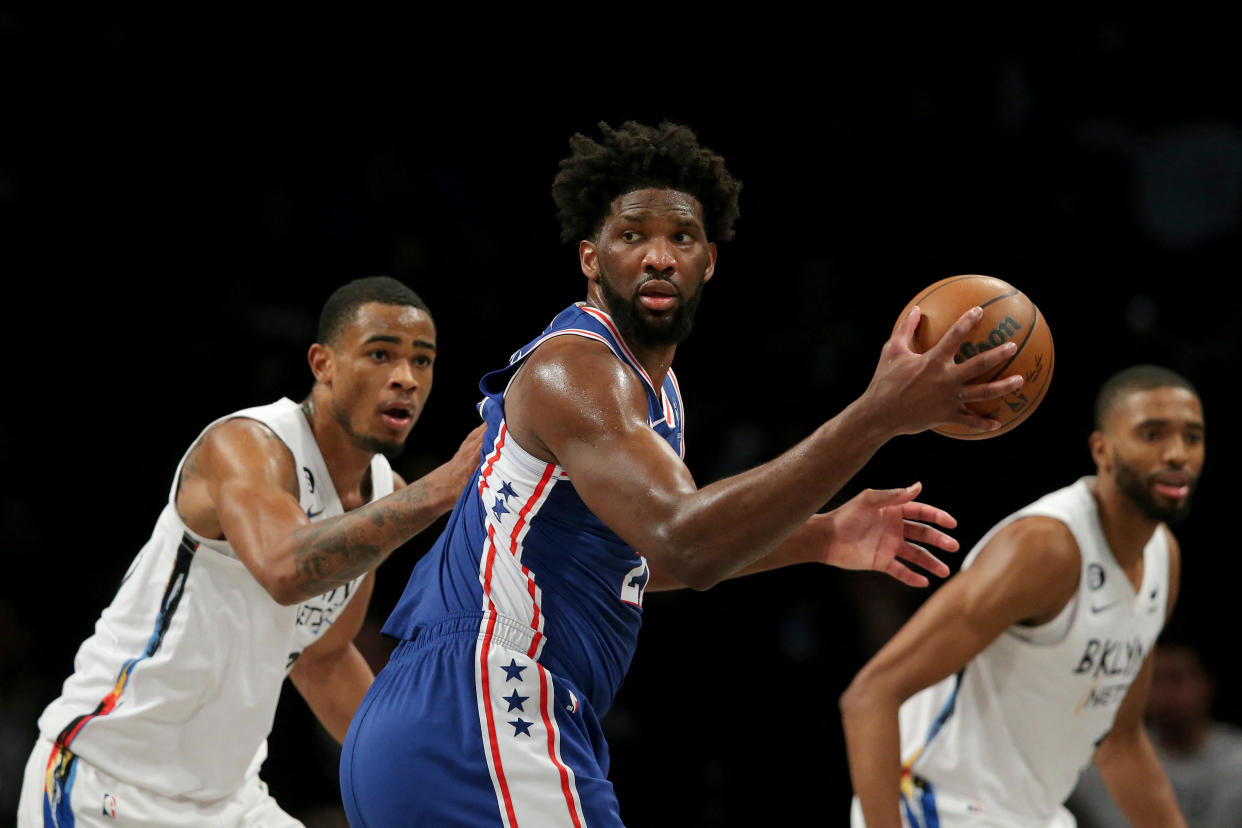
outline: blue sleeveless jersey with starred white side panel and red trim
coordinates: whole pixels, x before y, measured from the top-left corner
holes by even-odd
[[[682,402],[668,372],[657,389],[612,319],[575,304],[483,377],[483,458],[448,526],[411,574],[384,632],[412,639],[446,618],[496,614],[520,629],[532,658],[568,678],[604,715],[633,654],[648,580],[647,561],[605,526],[568,473],[509,436],[504,392],[527,356],[551,338],[607,345],[643,381],[648,425],[683,454]]]

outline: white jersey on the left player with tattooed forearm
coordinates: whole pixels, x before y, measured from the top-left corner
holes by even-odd
[[[344,513],[298,403],[281,400],[211,425],[236,417],[262,422],[292,452],[308,518]],[[39,729],[112,776],[207,802],[258,772],[284,677],[361,576],[299,605],[278,605],[226,541],[199,536],[181,521],[174,499],[184,463],[150,540]],[[389,494],[388,461],[376,456],[370,472],[373,499]]]

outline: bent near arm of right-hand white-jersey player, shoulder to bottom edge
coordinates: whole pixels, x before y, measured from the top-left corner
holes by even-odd
[[[850,777],[868,828],[902,824],[902,703],[960,670],[1007,627],[1056,617],[1077,587],[1079,565],[1064,524],[1017,520],[929,597],[854,677],[841,696],[841,716]]]

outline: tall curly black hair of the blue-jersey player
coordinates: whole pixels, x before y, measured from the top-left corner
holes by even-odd
[[[738,181],[724,159],[700,146],[688,127],[663,122],[647,127],[633,120],[620,129],[600,123],[602,138],[581,133],[569,139],[573,150],[561,159],[551,184],[560,237],[566,242],[595,238],[612,202],[626,192],[667,187],[694,196],[703,206],[709,241],[733,238],[738,220]]]

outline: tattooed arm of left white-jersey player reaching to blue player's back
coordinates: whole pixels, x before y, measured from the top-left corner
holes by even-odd
[[[312,523],[298,503],[297,468],[284,443],[257,421],[230,420],[195,447],[183,479],[189,473],[201,480],[183,485],[178,510],[199,534],[229,539],[272,598],[293,605],[370,571],[452,509],[478,466],[482,441],[479,426],[425,477]]]

